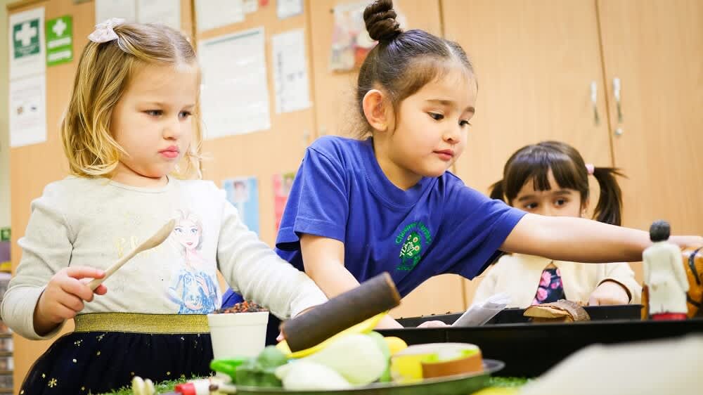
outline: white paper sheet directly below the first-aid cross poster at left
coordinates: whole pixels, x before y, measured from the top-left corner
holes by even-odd
[[[44,73],[11,81],[9,107],[11,147],[46,141]]]

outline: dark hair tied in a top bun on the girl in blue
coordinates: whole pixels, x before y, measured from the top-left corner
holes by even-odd
[[[397,117],[401,101],[457,63],[474,77],[473,65],[459,44],[424,30],[404,32],[395,18],[392,0],[376,0],[363,11],[368,35],[378,41],[363,61],[357,80],[356,105],[364,120],[363,98],[378,86],[388,94]]]

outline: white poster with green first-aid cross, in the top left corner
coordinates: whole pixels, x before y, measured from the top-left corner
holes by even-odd
[[[44,7],[10,15],[10,79],[46,72]]]

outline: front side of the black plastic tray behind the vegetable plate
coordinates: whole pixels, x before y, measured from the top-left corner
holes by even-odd
[[[434,316],[437,317],[437,316]],[[681,321],[592,320],[579,323],[515,323],[479,327],[379,330],[408,344],[477,344],[484,358],[505,362],[501,375],[536,377],[591,344],[614,344],[703,333],[703,318]]]

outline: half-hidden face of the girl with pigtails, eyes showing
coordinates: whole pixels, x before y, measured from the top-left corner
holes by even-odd
[[[550,190],[535,190],[532,180],[527,181],[512,200],[512,207],[548,216],[585,216],[586,205],[581,205],[578,190],[561,188],[551,170],[548,180]]]

